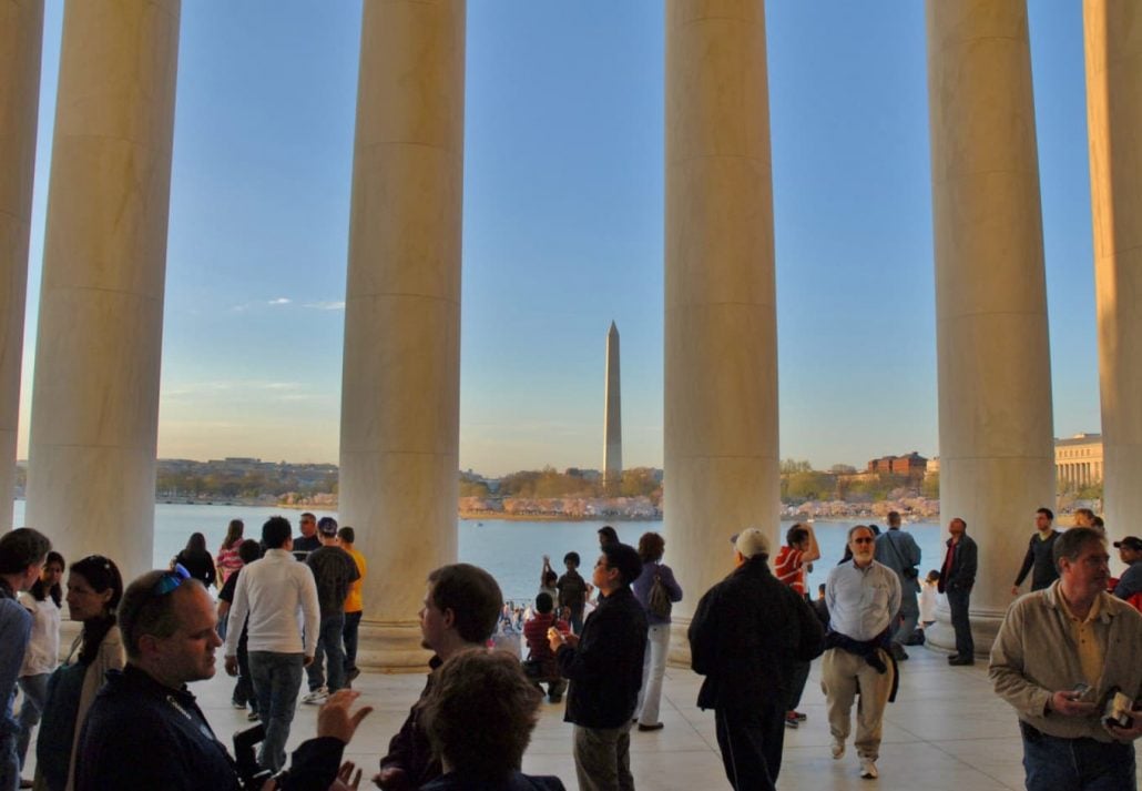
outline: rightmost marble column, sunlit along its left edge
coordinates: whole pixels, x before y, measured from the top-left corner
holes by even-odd
[[[1083,24],[1103,511],[1121,537],[1142,513],[1142,15],[1134,0],[1085,0]]]

